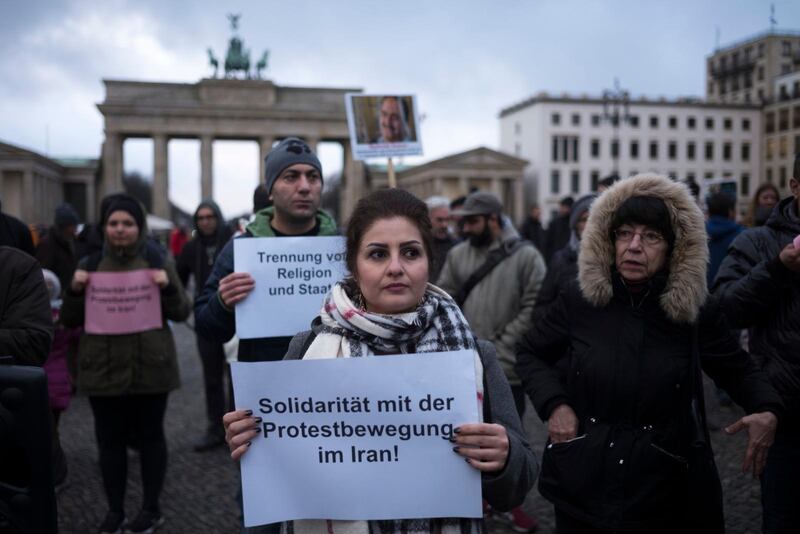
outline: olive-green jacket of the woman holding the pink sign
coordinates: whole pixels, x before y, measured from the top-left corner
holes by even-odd
[[[137,251],[148,246],[137,243]],[[149,245],[152,247],[153,245]],[[136,251],[114,253],[103,249],[97,271],[121,272],[151,268],[151,262]],[[90,257],[78,265],[85,269]],[[189,316],[190,305],[181,285],[172,258],[163,260],[169,285],[161,290],[163,326],[136,334],[81,335],[78,347],[78,390],[85,395],[113,396],[128,394],[165,393],[180,385],[175,340],[167,320],[183,321]],[[61,320],[66,326],[83,326],[84,293],[66,292],[61,308]]]

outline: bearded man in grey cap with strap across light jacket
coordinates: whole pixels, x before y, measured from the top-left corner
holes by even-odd
[[[438,286],[455,298],[478,337],[492,342],[505,372],[520,419],[525,393],[514,371],[515,348],[529,328],[546,267],[539,251],[519,238],[503,217],[503,205],[491,193],[475,192],[454,212],[462,217],[465,241],[447,254]],[[498,519],[518,532],[537,521],[515,508]]]

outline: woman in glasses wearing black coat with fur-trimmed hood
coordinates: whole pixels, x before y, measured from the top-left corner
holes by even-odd
[[[745,466],[763,468],[783,407],[705,305],[707,261],[703,215],[683,184],[642,174],[592,205],[577,281],[517,354],[547,421],[539,489],[555,504],[559,533],[724,530],[719,494],[687,499],[693,346],[752,414],[728,431],[747,430]],[[556,368],[564,358],[566,374]]]

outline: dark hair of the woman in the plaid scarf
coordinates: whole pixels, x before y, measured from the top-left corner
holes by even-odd
[[[356,204],[347,222],[345,263],[350,273],[356,274],[356,258],[361,240],[367,230],[381,219],[404,217],[411,221],[422,236],[422,246],[428,257],[428,271],[433,266],[433,234],[428,206],[402,189],[380,189],[365,196]]]

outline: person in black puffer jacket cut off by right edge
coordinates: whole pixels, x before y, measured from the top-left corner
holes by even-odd
[[[734,328],[750,329],[750,353],[786,404],[761,477],[765,533],[796,532],[800,508],[800,156],[789,181],[792,196],[765,226],[739,234],[722,261],[714,296]]]

